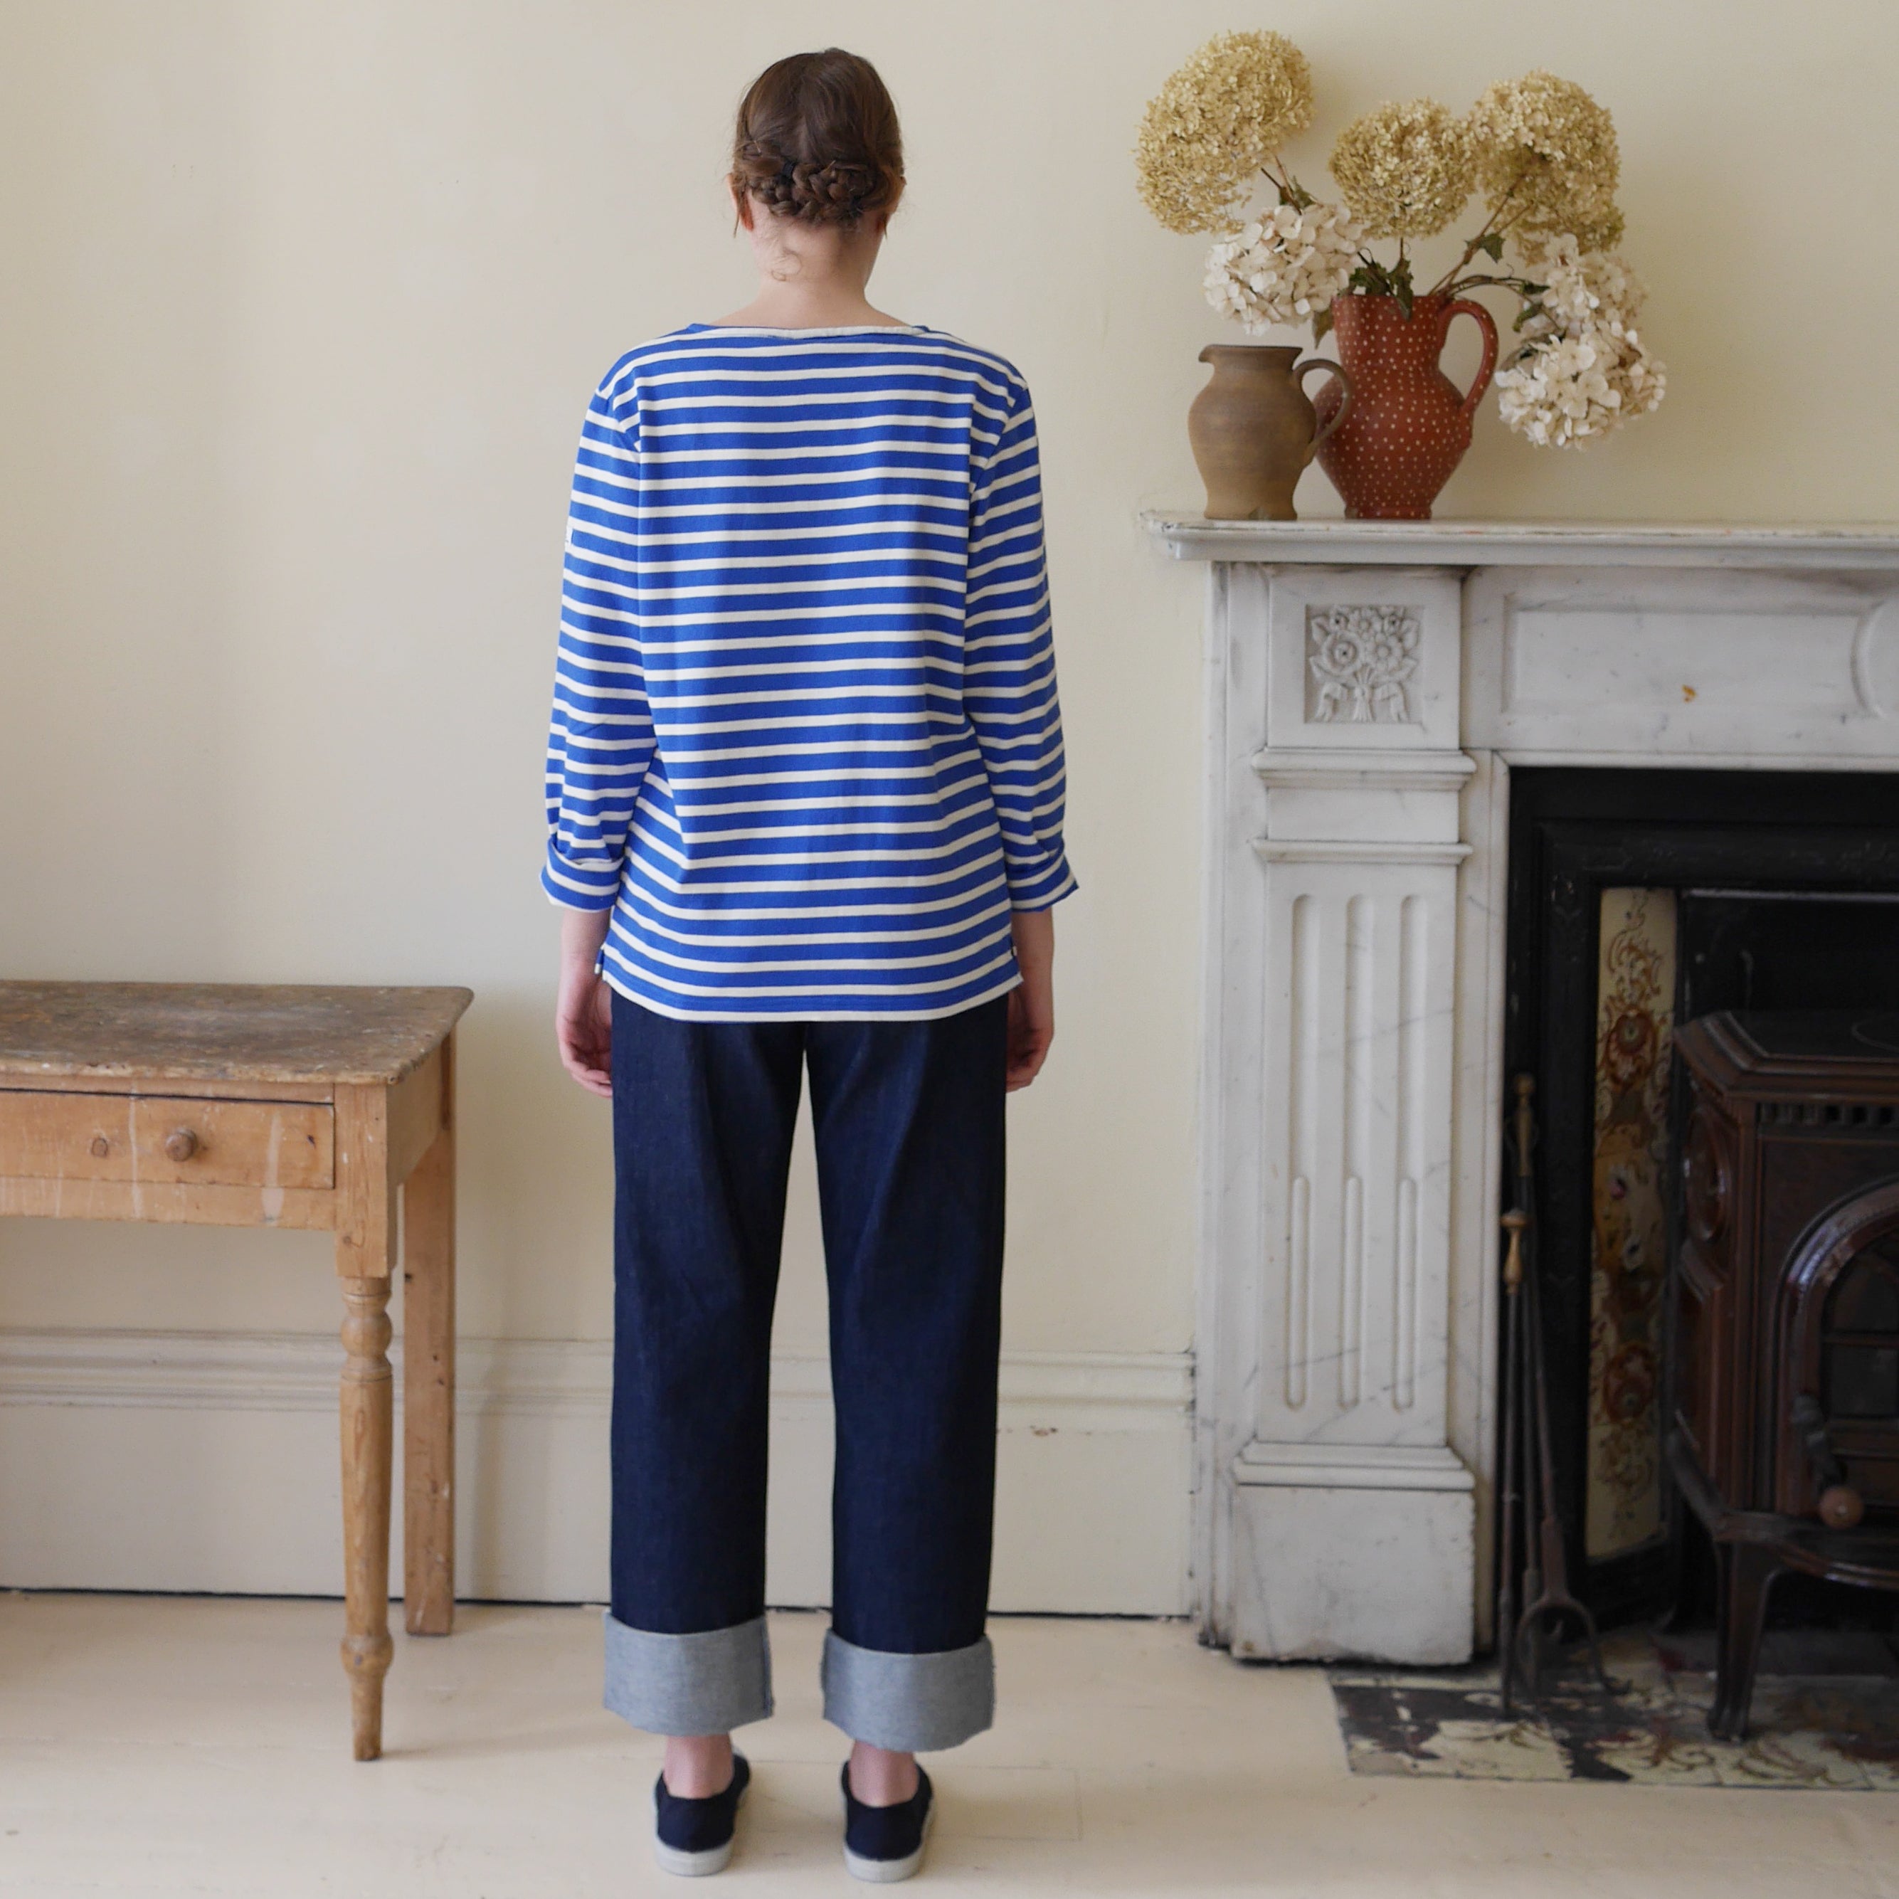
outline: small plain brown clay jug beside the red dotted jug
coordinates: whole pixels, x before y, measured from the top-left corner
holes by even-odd
[[[1314,450],[1352,408],[1352,380],[1337,363],[1265,344],[1208,344],[1213,380],[1187,410],[1187,439],[1206,482],[1210,520],[1297,520],[1293,488]],[[1299,385],[1314,368],[1339,378],[1333,418],[1318,414]]]

